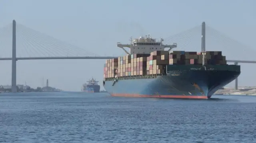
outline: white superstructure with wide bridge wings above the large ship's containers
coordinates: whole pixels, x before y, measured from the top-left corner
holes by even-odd
[[[122,48],[126,54],[150,54],[152,51],[164,51],[165,48],[170,48],[170,51],[173,48],[177,47],[177,43],[173,43],[172,45],[164,45],[162,41],[164,39],[160,39],[157,41],[150,37],[150,34],[146,35],[145,37],[139,37],[138,39],[130,39],[130,44],[121,44],[120,42],[117,43],[117,47]],[[130,52],[126,51],[124,47],[130,48]]]

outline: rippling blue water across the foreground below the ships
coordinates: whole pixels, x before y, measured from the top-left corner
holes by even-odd
[[[0,142],[252,143],[255,111],[256,96],[177,100],[1,93]]]

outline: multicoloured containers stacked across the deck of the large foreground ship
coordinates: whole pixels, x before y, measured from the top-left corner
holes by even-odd
[[[154,51],[150,54],[133,54],[108,59],[104,64],[104,78],[161,74],[165,65],[202,65],[203,55],[185,51]],[[221,51],[206,51],[206,65],[226,65]]]

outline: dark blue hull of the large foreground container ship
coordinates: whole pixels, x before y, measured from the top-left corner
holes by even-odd
[[[104,88],[112,96],[151,98],[207,99],[218,89],[232,82],[240,71],[170,71],[155,78],[105,81]]]

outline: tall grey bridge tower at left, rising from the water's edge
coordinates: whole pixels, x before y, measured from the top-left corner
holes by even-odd
[[[16,88],[16,21],[12,21],[12,92],[17,92]]]

